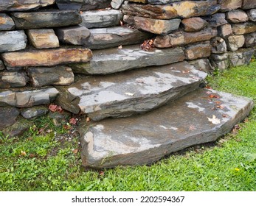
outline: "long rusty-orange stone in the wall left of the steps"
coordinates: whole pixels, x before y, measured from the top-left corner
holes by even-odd
[[[42,49],[1,54],[5,65],[10,67],[86,63],[91,60],[89,49]]]

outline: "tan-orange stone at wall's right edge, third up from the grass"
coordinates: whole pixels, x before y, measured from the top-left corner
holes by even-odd
[[[232,24],[232,30],[235,35],[244,35],[256,32],[256,22],[248,21],[243,24]]]

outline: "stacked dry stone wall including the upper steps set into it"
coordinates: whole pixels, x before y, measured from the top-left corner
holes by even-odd
[[[148,39],[150,56],[121,51]],[[118,46],[118,57],[99,50]],[[77,73],[182,60],[210,72],[248,64],[255,48],[255,0],[0,0],[0,130],[45,115]]]

